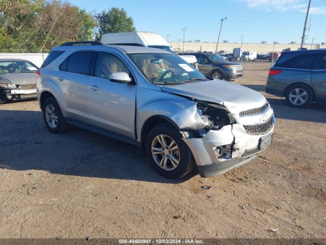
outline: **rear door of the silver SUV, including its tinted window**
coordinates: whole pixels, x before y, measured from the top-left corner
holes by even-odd
[[[88,80],[96,52],[77,51],[65,59],[59,69],[58,84],[66,99],[66,112],[69,119],[89,124]]]

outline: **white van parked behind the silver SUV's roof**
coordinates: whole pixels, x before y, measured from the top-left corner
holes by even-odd
[[[101,42],[104,44],[155,47],[177,54],[172,46],[161,35],[153,32],[107,33],[102,35]],[[180,58],[194,66],[197,63],[197,59],[194,55],[180,55]]]

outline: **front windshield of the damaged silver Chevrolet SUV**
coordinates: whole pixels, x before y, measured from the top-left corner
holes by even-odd
[[[206,81],[201,72],[183,59],[172,54],[129,54],[148,81],[154,84],[181,84]]]

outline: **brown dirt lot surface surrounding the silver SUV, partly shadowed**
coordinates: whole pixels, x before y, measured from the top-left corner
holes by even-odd
[[[326,237],[326,105],[265,94],[268,68],[249,62],[236,83],[267,97],[273,144],[213,178],[165,179],[133,145],[51,134],[37,101],[0,105],[0,237]]]

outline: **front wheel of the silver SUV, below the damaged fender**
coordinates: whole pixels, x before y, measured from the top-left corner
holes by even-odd
[[[145,151],[154,170],[169,179],[179,179],[195,166],[192,152],[180,132],[169,124],[159,124],[150,130]]]

